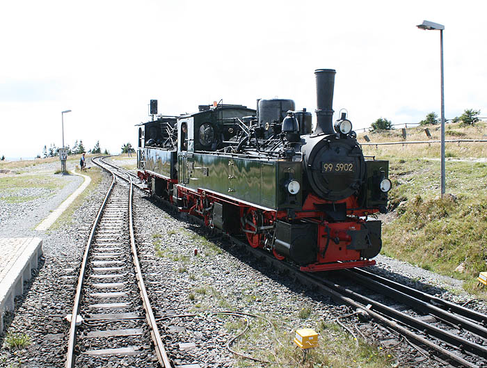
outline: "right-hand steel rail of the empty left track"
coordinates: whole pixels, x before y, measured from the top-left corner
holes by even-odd
[[[143,307],[145,309],[145,316],[147,319],[147,323],[151,328],[151,335],[152,340],[154,341],[154,348],[157,353],[157,359],[159,363],[164,368],[171,368],[170,361],[168,355],[166,353],[166,349],[164,349],[164,344],[161,339],[161,334],[159,333],[159,328],[157,327],[157,321],[154,317],[154,312],[152,311],[152,306],[150,305],[149,296],[147,295],[147,290],[145,289],[145,283],[142,276],[141,264],[138,262],[138,253],[135,244],[135,237],[134,237],[134,218],[132,214],[132,191],[133,185],[130,181],[130,189],[129,189],[129,230],[130,230],[130,246],[132,250],[132,258],[134,260],[134,266],[136,269],[136,278],[138,287],[141,291],[141,298],[143,302]]]

